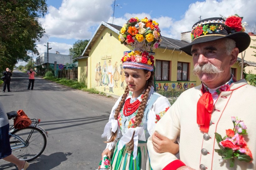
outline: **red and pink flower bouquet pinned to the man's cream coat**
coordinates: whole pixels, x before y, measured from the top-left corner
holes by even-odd
[[[230,160],[230,167],[234,166],[235,158],[239,161],[252,162],[252,152],[247,146],[246,141],[242,135],[247,135],[247,127],[243,121],[238,120],[236,117],[232,117],[234,124],[233,129],[226,130],[226,136],[222,139],[221,135],[215,133],[216,141],[220,149],[215,149],[221,157],[221,161]]]

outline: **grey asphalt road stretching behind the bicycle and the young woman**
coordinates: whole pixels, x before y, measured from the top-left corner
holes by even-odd
[[[6,112],[23,110],[30,118],[41,119],[39,125],[48,131],[45,151],[27,170],[97,169],[106,147],[101,134],[117,98],[74,90],[37,76],[34,90],[28,91],[27,85],[28,75],[14,71],[12,92],[0,92]],[[0,169],[16,167],[0,160]]]

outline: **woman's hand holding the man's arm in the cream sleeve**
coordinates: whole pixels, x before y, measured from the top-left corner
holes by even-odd
[[[157,153],[170,152],[172,154],[177,154],[179,151],[178,144],[175,144],[172,140],[157,132],[154,132],[152,135],[152,144]]]

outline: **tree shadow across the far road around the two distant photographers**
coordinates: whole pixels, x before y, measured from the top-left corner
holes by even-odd
[[[28,91],[29,78],[26,73],[14,71],[11,77],[10,90],[12,92]],[[30,86],[31,87],[31,86]],[[3,90],[3,85],[1,85],[1,91]],[[34,90],[38,91],[69,91],[75,90],[64,85],[53,83],[42,79],[42,76],[35,76]],[[9,95],[9,94],[8,94]]]

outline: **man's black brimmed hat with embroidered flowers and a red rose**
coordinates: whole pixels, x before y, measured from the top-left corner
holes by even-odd
[[[222,38],[233,39],[239,53],[250,45],[250,36],[245,33],[246,22],[242,23],[242,18],[237,14],[221,18],[207,18],[195,23],[191,31],[191,43],[180,48],[188,55],[191,55],[193,44],[204,43]]]

